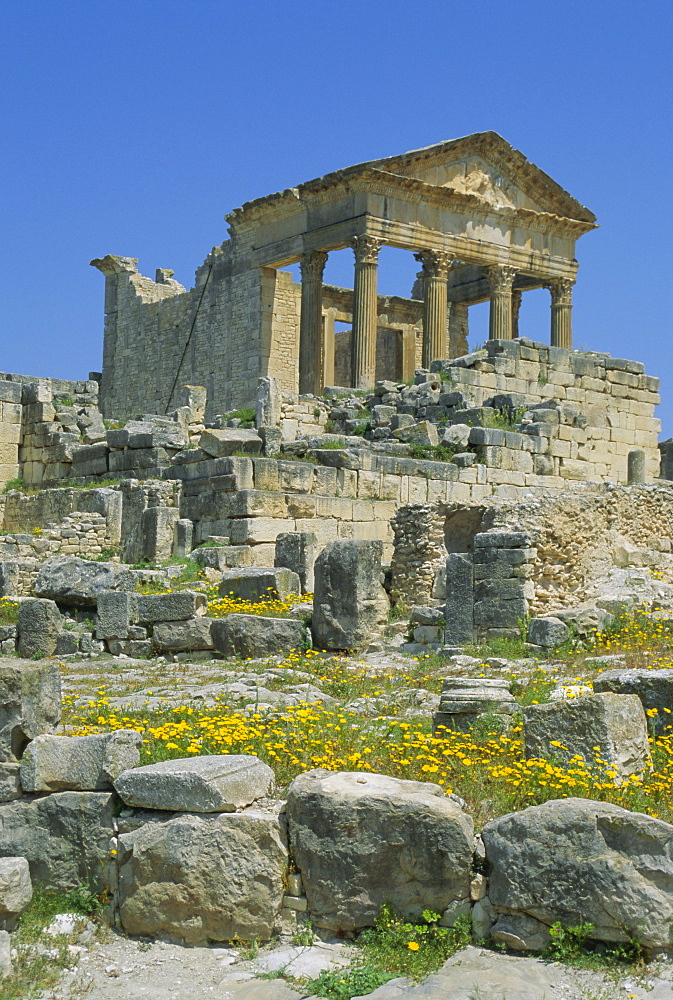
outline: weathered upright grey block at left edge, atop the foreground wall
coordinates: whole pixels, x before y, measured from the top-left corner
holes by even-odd
[[[61,675],[53,663],[0,665],[0,761],[19,760],[30,740],[61,721]]]

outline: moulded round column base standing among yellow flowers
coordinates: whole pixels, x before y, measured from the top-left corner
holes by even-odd
[[[432,717],[432,728],[436,735],[441,729],[465,732],[470,729],[480,715],[492,715],[494,724],[500,721],[508,724],[509,717],[516,711],[517,703],[509,690],[509,681],[500,678],[449,677],[442,684],[439,709]]]

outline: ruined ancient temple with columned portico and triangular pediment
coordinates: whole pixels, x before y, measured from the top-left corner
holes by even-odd
[[[575,241],[594,215],[495,132],[371,160],[226,216],[187,291],[137,260],[92,261],[106,277],[101,401],[106,416],[168,412],[184,383],[209,415],[250,405],[260,376],[283,389],[369,389],[467,352],[468,309],[490,301],[489,336],[517,336],[525,291],[550,290],[552,346],[572,346]],[[411,298],[377,294],[383,246],[421,265]],[[323,283],[351,247],[353,290]],[[299,262],[301,283],[283,268]],[[335,335],[335,323],[350,330]]]

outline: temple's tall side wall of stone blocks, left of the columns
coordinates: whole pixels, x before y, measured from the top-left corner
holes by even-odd
[[[141,275],[132,257],[92,261],[106,276],[106,417],[166,413],[183,382],[208,389],[209,419],[253,405],[264,375],[297,390],[301,284],[289,271],[252,266],[252,241],[252,233],[237,234],[214,247],[189,291],[165,272],[157,272],[158,281]],[[324,308],[332,320],[346,316],[345,299],[350,319],[352,292],[325,286]],[[421,308],[419,302],[379,297],[384,321],[405,331],[418,326]]]

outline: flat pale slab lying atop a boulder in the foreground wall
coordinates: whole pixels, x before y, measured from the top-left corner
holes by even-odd
[[[251,754],[164,760],[115,781],[128,806],[179,812],[234,812],[273,791],[273,771]]]

